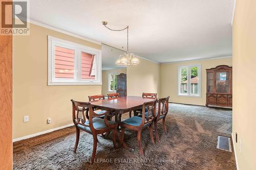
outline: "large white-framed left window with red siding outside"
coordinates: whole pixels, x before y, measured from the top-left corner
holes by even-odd
[[[48,85],[101,85],[101,51],[48,36]]]

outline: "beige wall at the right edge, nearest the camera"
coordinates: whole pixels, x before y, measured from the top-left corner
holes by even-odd
[[[237,1],[233,20],[233,141],[240,170],[256,169],[256,1]],[[241,151],[240,151],[241,140]]]

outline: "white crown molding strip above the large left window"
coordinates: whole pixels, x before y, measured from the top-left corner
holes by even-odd
[[[50,29],[50,30],[53,30],[53,31],[57,31],[57,32],[60,32],[60,33],[63,33],[63,34],[70,35],[72,37],[76,37],[76,38],[79,38],[79,39],[82,39],[82,40],[86,40],[86,41],[93,42],[95,44],[101,45],[101,42],[99,42],[99,41],[95,41],[95,40],[92,40],[90,38],[86,38],[86,37],[83,37],[83,36],[80,36],[80,35],[77,35],[77,34],[74,34],[74,33],[71,33],[71,32],[53,27],[53,26],[50,26],[50,25],[47,25],[47,24],[39,22],[39,21],[35,21],[35,20],[30,19],[29,22],[34,24],[34,25],[40,26],[40,27],[44,27],[44,28],[47,28],[47,29]]]

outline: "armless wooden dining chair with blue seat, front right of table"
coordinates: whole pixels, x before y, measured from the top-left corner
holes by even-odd
[[[147,114],[145,114],[146,108],[147,108]],[[133,116],[123,120],[120,123],[120,127],[121,127],[120,145],[122,145],[123,143],[125,129],[137,131],[139,151],[141,155],[144,155],[141,147],[141,131],[145,128],[148,128],[150,130],[151,141],[153,144],[155,143],[154,137],[153,137],[153,123],[154,123],[155,115],[156,115],[156,101],[152,101],[152,102],[146,102],[143,104],[142,117]]]

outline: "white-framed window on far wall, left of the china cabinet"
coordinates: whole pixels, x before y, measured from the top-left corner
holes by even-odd
[[[201,96],[201,66],[179,66],[179,95]]]

